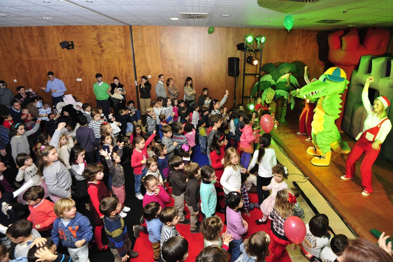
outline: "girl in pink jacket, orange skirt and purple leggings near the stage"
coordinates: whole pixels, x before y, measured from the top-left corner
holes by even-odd
[[[256,138],[255,135],[257,134],[257,132],[252,131],[251,118],[251,114],[245,114],[243,116],[243,123],[240,126],[242,135],[240,137],[239,150],[243,151],[240,163],[245,169],[248,169],[248,164],[250,164],[251,154],[254,152],[253,141]]]

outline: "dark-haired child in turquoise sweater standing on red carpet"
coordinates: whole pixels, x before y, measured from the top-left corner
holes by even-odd
[[[217,206],[217,196],[214,183],[217,181],[216,173],[213,167],[204,165],[200,170],[200,176],[202,177],[202,183],[200,183],[200,200],[201,200],[201,211],[202,218],[208,218],[214,216]]]

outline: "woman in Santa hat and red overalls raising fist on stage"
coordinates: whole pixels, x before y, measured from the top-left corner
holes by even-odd
[[[362,191],[363,196],[368,196],[373,192],[371,185],[371,167],[375,159],[378,157],[380,145],[384,142],[387,134],[389,134],[392,124],[386,117],[385,109],[390,105],[390,102],[385,96],[377,97],[374,104],[371,106],[368,98],[368,88],[371,82],[374,82],[373,77],[368,77],[363,88],[362,102],[367,111],[367,117],[364,121],[363,132],[356,137],[356,144],[351,150],[347,163],[345,164],[345,176],[341,176],[342,180],[353,179],[355,173],[356,161],[364,153],[364,159],[360,165],[360,175],[362,176]]]

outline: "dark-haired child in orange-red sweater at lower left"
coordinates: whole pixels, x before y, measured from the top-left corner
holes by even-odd
[[[40,185],[30,187],[23,194],[23,200],[29,205],[30,215],[27,220],[33,223],[42,237],[50,237],[53,222],[57,218],[53,212],[53,202],[44,199],[45,191]]]

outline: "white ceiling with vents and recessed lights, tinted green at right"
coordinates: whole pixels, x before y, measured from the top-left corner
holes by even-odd
[[[357,27],[393,26],[393,0],[92,0],[92,3],[86,0],[48,1],[50,3],[42,0],[0,0],[0,14],[7,15],[0,16],[0,26],[121,25],[123,22],[152,26],[283,28],[286,15],[294,17],[294,29],[334,29],[348,27],[349,24]],[[347,9],[348,12],[342,13],[342,9]],[[208,13],[208,18],[182,19],[180,13]],[[53,19],[44,20],[42,17]],[[320,19],[345,21],[337,24],[312,23]],[[266,23],[266,20],[272,22]]]

